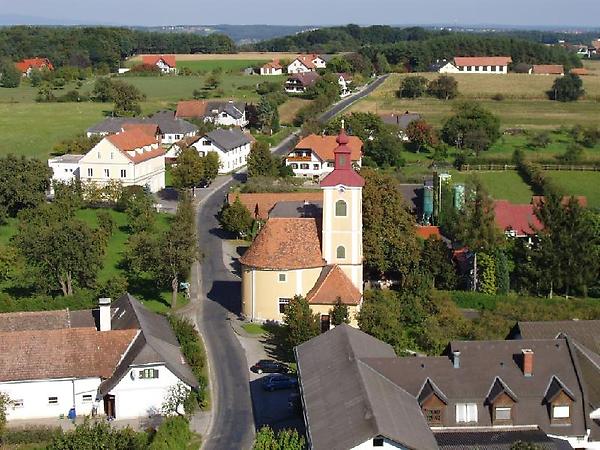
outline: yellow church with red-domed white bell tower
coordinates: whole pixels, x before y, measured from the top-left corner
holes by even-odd
[[[351,323],[363,297],[362,188],[353,169],[349,138],[337,137],[335,167],[320,183],[321,202],[286,201],[281,195],[269,219],[240,259],[242,312],[252,321],[283,320],[296,295],[305,297],[330,326],[338,301],[348,306]]]

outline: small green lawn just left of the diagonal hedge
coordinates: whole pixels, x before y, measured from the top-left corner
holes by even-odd
[[[452,170],[450,174],[452,183],[465,182],[470,176],[477,176],[489,194],[496,200],[509,200],[513,203],[531,202],[533,191],[516,171],[458,172]]]

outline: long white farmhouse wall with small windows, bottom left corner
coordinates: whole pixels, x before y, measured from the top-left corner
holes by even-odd
[[[58,418],[66,417],[73,406],[77,415],[91,414],[98,386],[99,378],[34,380],[0,383],[0,392],[23,401],[22,407],[7,409],[8,420]],[[84,394],[91,395],[91,401],[84,402]],[[58,397],[58,403],[49,404],[48,397]]]

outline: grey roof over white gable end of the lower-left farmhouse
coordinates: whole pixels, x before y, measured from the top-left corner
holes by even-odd
[[[198,387],[198,380],[183,358],[177,337],[167,319],[153,313],[130,294],[123,295],[112,307],[112,329],[140,329],[135,342],[100,391],[109,392],[129,372],[130,365],[163,363],[181,381]]]

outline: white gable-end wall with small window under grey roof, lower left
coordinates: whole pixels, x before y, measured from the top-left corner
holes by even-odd
[[[139,371],[144,369],[157,369],[158,378],[140,379]],[[169,388],[179,382],[179,378],[162,364],[130,367],[109,393],[115,396],[116,418],[129,419],[159,413]]]

